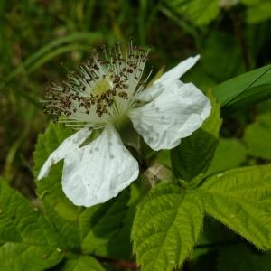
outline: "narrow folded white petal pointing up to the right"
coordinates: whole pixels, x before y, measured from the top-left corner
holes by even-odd
[[[168,70],[159,79],[154,81],[154,85],[152,87],[142,91],[138,99],[146,102],[154,100],[154,98],[157,98],[163,92],[164,85],[170,81],[180,79],[187,70],[190,70],[196,62],[199,61],[199,59],[200,55],[190,57],[179,63],[173,69]]]

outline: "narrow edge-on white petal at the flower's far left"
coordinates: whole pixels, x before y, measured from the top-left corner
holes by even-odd
[[[51,153],[46,162],[42,165],[42,169],[38,175],[38,180],[46,177],[50,172],[52,164],[57,164],[61,159],[64,159],[68,154],[75,152],[91,134],[89,128],[83,128],[74,135],[66,138],[59,147]]]

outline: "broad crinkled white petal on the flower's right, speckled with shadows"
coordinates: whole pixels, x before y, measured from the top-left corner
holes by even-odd
[[[172,149],[181,138],[192,135],[210,114],[210,101],[192,83],[179,80],[164,86],[163,93],[149,104],[132,109],[135,130],[155,151]]]

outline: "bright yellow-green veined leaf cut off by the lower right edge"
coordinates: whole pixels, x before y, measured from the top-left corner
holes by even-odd
[[[257,248],[271,248],[271,165],[207,178],[198,191],[206,212]]]

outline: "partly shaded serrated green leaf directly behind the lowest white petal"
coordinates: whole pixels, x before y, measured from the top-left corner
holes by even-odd
[[[39,136],[34,153],[35,175],[70,133],[70,129],[50,124],[44,135]],[[133,188],[127,188],[117,198],[104,204],[77,207],[62,192],[61,173],[62,163],[53,165],[48,177],[37,182],[37,191],[44,212],[60,232],[65,246],[101,257],[131,257],[130,231],[138,198],[131,201],[130,190]]]

